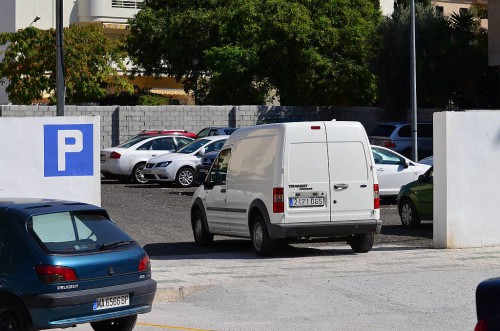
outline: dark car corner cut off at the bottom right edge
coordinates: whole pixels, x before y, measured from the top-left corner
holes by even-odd
[[[477,324],[474,331],[500,330],[500,278],[483,280],[476,288]]]

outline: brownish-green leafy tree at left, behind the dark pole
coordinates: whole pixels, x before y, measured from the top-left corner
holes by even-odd
[[[50,93],[55,102],[55,30],[34,27],[13,33],[0,33],[4,55],[0,79],[9,99],[16,104],[31,104]],[[64,76],[67,103],[95,102],[109,90],[133,91],[127,78],[126,53],[119,40],[107,38],[95,25],[71,25],[64,29]]]

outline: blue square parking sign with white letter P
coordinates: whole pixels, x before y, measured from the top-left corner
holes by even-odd
[[[44,176],[94,175],[93,124],[47,124],[44,133]]]

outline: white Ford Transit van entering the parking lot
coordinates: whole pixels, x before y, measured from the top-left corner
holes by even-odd
[[[382,228],[368,137],[359,122],[297,122],[235,131],[193,196],[195,242],[251,238],[258,256],[276,239],[328,237],[368,252]]]

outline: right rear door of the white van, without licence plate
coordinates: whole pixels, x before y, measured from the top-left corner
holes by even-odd
[[[366,132],[357,122],[326,123],[331,220],[373,218],[374,178]]]

